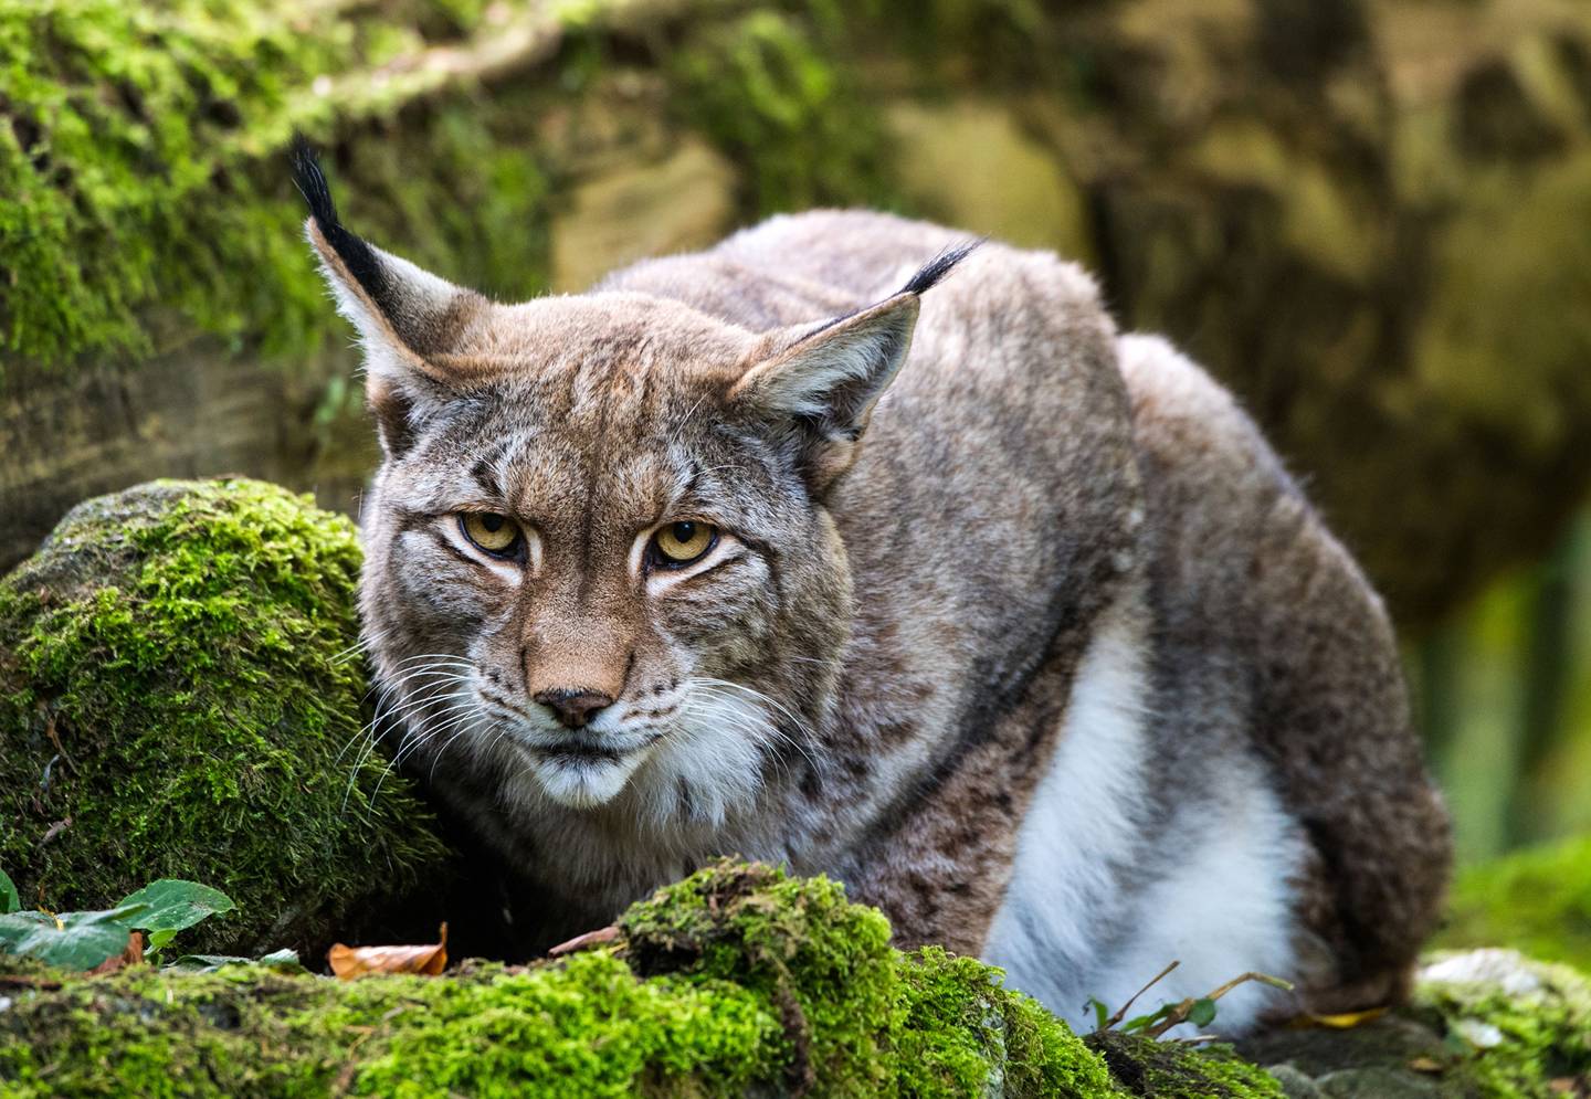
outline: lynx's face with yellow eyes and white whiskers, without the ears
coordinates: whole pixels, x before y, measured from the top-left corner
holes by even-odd
[[[387,708],[404,751],[474,754],[515,798],[721,819],[818,717],[843,549],[732,407],[741,348],[571,340],[546,312],[504,310],[527,350],[439,404],[366,507]]]

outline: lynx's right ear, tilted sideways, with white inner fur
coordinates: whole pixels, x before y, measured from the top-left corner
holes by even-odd
[[[856,461],[873,406],[912,348],[921,294],[980,243],[942,251],[877,305],[818,328],[775,334],[765,358],[730,390],[733,404],[800,449],[815,493]]]

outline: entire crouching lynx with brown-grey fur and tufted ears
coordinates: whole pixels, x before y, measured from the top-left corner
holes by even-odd
[[[383,452],[387,736],[512,867],[523,934],[738,854],[1074,1023],[1173,959],[1150,1007],[1297,983],[1225,1032],[1405,991],[1449,835],[1386,612],[1079,267],[815,212],[509,305],[294,167]]]

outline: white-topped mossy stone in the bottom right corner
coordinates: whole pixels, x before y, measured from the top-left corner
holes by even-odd
[[[1438,957],[1424,975],[1414,1008],[1440,1019],[1486,1099],[1550,1099],[1591,1083],[1585,975],[1503,949]]]

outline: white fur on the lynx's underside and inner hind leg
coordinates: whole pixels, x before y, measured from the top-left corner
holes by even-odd
[[[1301,854],[1257,762],[1235,755],[1219,789],[1181,797],[1147,789],[1153,751],[1141,619],[1117,608],[1077,673],[1061,740],[1017,840],[1006,900],[985,961],[1074,1029],[1090,1029],[1095,997],[1120,1007],[1169,962],[1181,965],[1133,1013],[1203,996],[1258,970],[1289,977],[1293,916],[1289,881]],[[1190,835],[1195,830],[1196,835]],[[1161,859],[1166,837],[1185,856]],[[1274,996],[1244,984],[1220,1002],[1212,1029],[1251,1027]]]

